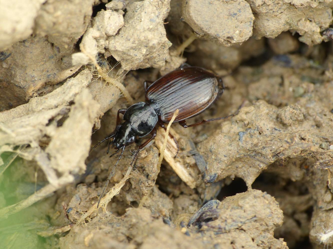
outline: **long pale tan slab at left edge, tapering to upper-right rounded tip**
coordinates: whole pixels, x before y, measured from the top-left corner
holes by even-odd
[[[33,98],[25,105],[2,112],[1,145],[31,144],[36,147],[44,135],[52,136],[48,130],[55,129],[57,121],[68,115],[71,102],[90,83],[91,77],[90,71],[84,70],[52,93]],[[41,132],[41,129],[44,132]]]

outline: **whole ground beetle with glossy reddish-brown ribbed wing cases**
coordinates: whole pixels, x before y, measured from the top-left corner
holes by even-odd
[[[115,167],[123,155],[126,146],[133,143],[137,136],[144,137],[151,134],[152,137],[141,144],[133,155],[132,165],[139,151],[156,136],[156,125],[159,124],[166,129],[164,122],[169,122],[177,109],[179,113],[174,122],[178,122],[184,128],[213,120],[225,119],[235,115],[232,114],[227,117],[203,120],[196,124],[186,124],[185,119],[192,118],[206,110],[224,91],[222,79],[200,67],[189,66],[179,68],[162,76],[149,87],[147,87],[147,81],[144,85],[147,102],[136,103],[128,109],[119,109],[115,131],[93,147],[94,149],[100,143],[114,138],[109,142],[107,153],[109,152],[110,145],[117,149],[111,156],[122,150]],[[120,113],[124,115],[123,120],[125,122],[122,124],[120,124]],[[170,133],[169,136],[173,138]],[[174,141],[177,145],[178,152],[178,143],[175,139]],[[109,184],[115,167],[108,177],[101,197]]]

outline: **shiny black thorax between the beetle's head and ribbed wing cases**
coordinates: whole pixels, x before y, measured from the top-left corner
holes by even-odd
[[[159,121],[156,111],[145,102],[130,106],[123,117],[129,122],[139,137],[148,135]]]

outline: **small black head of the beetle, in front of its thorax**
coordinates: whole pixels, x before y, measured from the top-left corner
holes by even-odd
[[[119,124],[116,127],[115,138],[112,141],[112,147],[120,149],[124,145],[130,145],[135,141],[137,132],[133,129],[132,125],[128,122]]]

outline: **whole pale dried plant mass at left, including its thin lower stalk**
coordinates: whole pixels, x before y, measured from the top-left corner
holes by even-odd
[[[34,159],[50,182],[21,203],[1,209],[1,216],[32,205],[72,182],[72,174],[84,172],[92,127],[100,115],[99,105],[85,89],[90,80],[91,73],[84,70],[52,93],[1,113],[1,151],[28,144],[17,153],[27,160]],[[64,117],[68,118],[62,123]],[[78,133],[72,133],[73,129]],[[42,150],[40,143],[45,137],[49,146]]]

